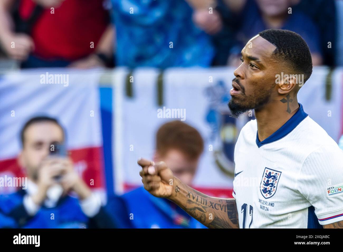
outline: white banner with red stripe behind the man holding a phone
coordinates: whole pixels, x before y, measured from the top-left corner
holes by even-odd
[[[99,71],[36,69],[0,78],[0,176],[19,176],[20,131],[35,116],[56,118],[66,129],[75,168],[104,186]]]

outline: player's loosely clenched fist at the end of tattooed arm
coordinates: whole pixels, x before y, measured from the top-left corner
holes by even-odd
[[[168,198],[173,192],[174,175],[163,161],[153,161],[140,158],[137,163],[142,167],[139,175],[142,177],[144,189],[156,197]]]

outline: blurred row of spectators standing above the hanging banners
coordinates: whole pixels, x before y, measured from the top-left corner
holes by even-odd
[[[342,65],[341,0],[3,0],[2,57],[22,68],[240,64],[264,29],[307,41],[314,65]],[[14,44],[15,46],[13,46]]]

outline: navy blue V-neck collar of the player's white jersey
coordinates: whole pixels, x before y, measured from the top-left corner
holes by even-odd
[[[299,103],[298,111],[291,117],[284,125],[280,127],[277,131],[271,134],[269,137],[264,139],[262,142],[258,139],[258,133],[256,132],[256,144],[257,147],[261,147],[264,144],[269,144],[275,142],[282,137],[286,136],[289,132],[295,129],[298,124],[307,117],[307,113],[304,112],[303,105]]]

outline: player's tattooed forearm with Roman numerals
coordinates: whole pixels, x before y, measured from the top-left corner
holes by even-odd
[[[169,200],[179,205],[206,227],[239,228],[235,199],[207,196],[175,178]]]

